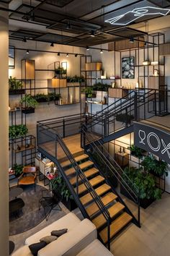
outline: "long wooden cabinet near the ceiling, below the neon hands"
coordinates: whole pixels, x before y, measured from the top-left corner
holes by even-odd
[[[140,48],[144,46],[145,39],[143,37],[137,38],[138,40],[134,40],[134,43],[130,43],[129,39],[119,40],[116,42],[108,43],[108,51],[123,51],[132,48]]]

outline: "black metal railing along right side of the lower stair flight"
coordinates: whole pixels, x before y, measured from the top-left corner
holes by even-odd
[[[138,213],[137,216],[134,215],[134,210],[130,210],[127,204],[125,204],[125,201],[122,200],[122,197],[119,195],[120,202],[125,205],[125,209],[127,212],[133,217],[133,222],[140,227],[140,196],[139,196],[139,190],[133,182],[129,179],[129,177],[124,173],[122,168],[117,164],[114,158],[112,158],[111,155],[107,152],[107,150],[104,148],[102,143],[98,141],[92,141],[93,135],[91,133],[86,132],[86,126],[83,125],[81,127],[81,142],[83,144],[81,145],[82,148],[84,148],[85,152],[89,154],[91,160],[95,163],[97,168],[99,169],[100,173],[104,178],[107,180],[108,184],[112,187],[114,192],[117,193],[117,189],[114,189],[112,182],[114,182],[114,179],[117,179],[119,183],[124,187],[125,191],[128,193],[128,195],[133,199],[135,204],[138,207]],[[102,168],[100,166],[100,163],[102,163]],[[113,179],[112,179],[113,178]],[[125,181],[126,180],[126,181]]]

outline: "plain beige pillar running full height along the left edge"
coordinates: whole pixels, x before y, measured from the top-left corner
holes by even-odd
[[[6,4],[0,7],[8,8]],[[8,12],[0,9],[0,255],[9,255],[9,86],[8,86]]]

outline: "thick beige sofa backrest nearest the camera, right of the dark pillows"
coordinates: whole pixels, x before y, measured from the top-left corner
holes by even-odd
[[[40,249],[38,256],[75,256],[97,239],[97,229],[91,221],[84,219],[66,234]]]

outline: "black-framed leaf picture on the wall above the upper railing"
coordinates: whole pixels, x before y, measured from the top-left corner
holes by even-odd
[[[135,78],[135,57],[122,58],[122,78]]]

